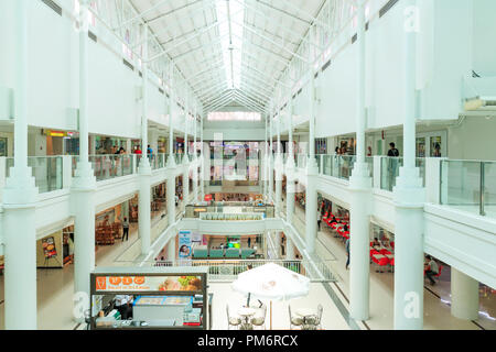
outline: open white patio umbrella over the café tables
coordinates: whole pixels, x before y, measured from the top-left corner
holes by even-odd
[[[272,329],[272,300],[288,300],[309,294],[310,278],[269,263],[238,275],[233,289],[255,298],[270,299],[270,329]]]

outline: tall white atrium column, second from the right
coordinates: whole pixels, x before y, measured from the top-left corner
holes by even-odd
[[[365,162],[365,3],[358,4],[358,61],[356,163],[349,177],[349,314],[353,319],[369,318],[369,201],[371,179]]]

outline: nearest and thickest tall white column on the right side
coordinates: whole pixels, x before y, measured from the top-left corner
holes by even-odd
[[[416,0],[405,7],[416,9]],[[405,163],[393,188],[395,329],[423,328],[424,189],[416,167],[416,32],[405,31]]]

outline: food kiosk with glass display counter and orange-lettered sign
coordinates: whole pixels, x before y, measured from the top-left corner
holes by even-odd
[[[206,267],[97,267],[90,274],[90,329],[200,329],[211,324]],[[131,310],[122,319],[119,308]]]

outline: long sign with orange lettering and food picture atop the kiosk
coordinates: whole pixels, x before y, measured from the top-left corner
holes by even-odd
[[[200,276],[96,276],[95,287],[101,292],[184,292],[201,290]]]

